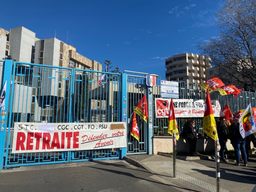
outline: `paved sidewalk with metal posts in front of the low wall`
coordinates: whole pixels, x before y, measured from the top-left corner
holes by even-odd
[[[190,160],[200,159],[199,157],[188,157]],[[176,158],[176,178],[173,178],[173,158],[171,155],[129,155],[125,160],[137,167],[143,167],[155,174],[155,178],[162,183],[175,184],[181,191],[212,191],[216,192],[216,170],[215,167],[207,167],[190,160]],[[241,167],[241,169],[243,169]],[[245,171],[244,171],[245,172]],[[246,176],[242,178],[237,173],[220,171],[221,192],[237,192],[238,189],[251,192],[256,182]],[[224,179],[229,178],[229,179]],[[248,180],[248,181],[247,181]],[[181,189],[183,188],[183,190]]]

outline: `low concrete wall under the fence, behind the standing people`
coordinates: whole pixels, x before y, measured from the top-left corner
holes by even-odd
[[[172,152],[172,136],[153,136],[153,154],[170,153]],[[228,150],[234,150],[233,146],[228,140],[227,143]],[[253,143],[251,142],[251,148],[253,148]],[[210,137],[198,137],[196,143],[196,151],[198,152],[210,152],[215,150],[215,142]],[[180,137],[176,144],[176,151],[189,153],[189,143],[187,138]]]

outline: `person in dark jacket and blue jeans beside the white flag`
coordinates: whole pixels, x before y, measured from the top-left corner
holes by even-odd
[[[242,154],[242,159],[243,159],[243,163],[245,164],[245,167],[248,167],[247,164],[247,154],[245,151],[245,138],[242,137],[242,135],[240,134],[240,123],[239,123],[239,119],[238,118],[234,118],[233,119],[234,123],[231,124],[231,137],[233,139],[233,143],[234,143],[234,149],[235,149],[235,159],[236,159],[236,166],[240,166],[240,151]]]

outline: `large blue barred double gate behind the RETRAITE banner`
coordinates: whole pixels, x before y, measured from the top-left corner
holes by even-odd
[[[4,142],[4,167],[54,164],[123,157],[123,148],[44,153],[11,153],[14,122],[118,122],[120,117],[121,74],[21,63],[11,60],[3,65],[13,66],[9,112]],[[0,63],[1,64],[1,63]],[[1,70],[1,68],[0,68]],[[2,73],[1,73],[2,74]],[[10,75],[11,75],[10,74]],[[1,86],[2,87],[2,86]],[[7,95],[7,94],[6,94]],[[2,132],[1,132],[2,133]],[[1,144],[2,145],[2,144]],[[1,153],[1,150],[0,150]],[[2,159],[0,159],[0,164]]]

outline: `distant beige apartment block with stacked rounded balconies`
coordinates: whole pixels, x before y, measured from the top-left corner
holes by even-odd
[[[211,68],[211,59],[203,55],[184,53],[165,60],[166,79],[202,84],[206,81],[206,69]]]

